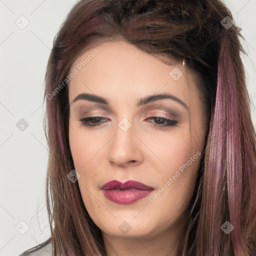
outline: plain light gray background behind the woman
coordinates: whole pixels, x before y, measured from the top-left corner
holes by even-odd
[[[0,256],[18,255],[50,236],[44,198],[48,150],[42,122],[43,78],[54,35],[75,2],[0,0]],[[242,44],[249,57],[243,61],[255,106],[256,0],[224,3],[246,39]],[[29,21],[24,29],[15,23],[21,23],[22,15]],[[29,124],[24,131],[16,127],[21,118]],[[29,226],[27,231],[20,221]]]

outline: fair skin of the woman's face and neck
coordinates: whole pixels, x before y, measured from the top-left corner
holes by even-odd
[[[68,85],[69,143],[83,203],[102,231],[107,255],[176,256],[201,155],[179,171],[154,201],[149,196],[196,152],[202,153],[206,116],[196,76],[182,62],[165,64],[127,42],[104,42],[96,48],[95,57]],[[70,70],[93,49],[78,56]],[[174,67],[183,73],[178,80],[169,75]],[[83,99],[72,102],[80,93],[104,97],[109,105]],[[187,108],[166,98],[137,106],[140,98],[160,93],[174,95]],[[79,120],[92,115],[104,117],[100,125],[84,126]],[[148,119],[157,115],[177,123],[163,126],[162,119]],[[131,124],[126,131],[118,126],[123,118]],[[100,189],[113,179],[137,180],[155,190],[134,203],[118,204]],[[126,233],[118,228],[123,221],[130,226]]]

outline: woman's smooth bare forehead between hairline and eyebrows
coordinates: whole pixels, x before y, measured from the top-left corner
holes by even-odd
[[[190,101],[196,91],[195,76],[182,62],[165,64],[127,42],[105,42],[83,51],[70,70],[77,73],[70,80],[69,100],[89,92],[111,97],[125,97],[171,92]]]

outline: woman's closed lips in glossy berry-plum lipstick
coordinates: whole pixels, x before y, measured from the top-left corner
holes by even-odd
[[[116,179],[106,182],[101,187],[104,196],[115,203],[129,204],[149,195],[154,188],[136,180],[125,182]]]

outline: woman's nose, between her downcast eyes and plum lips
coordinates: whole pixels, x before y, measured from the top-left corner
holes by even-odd
[[[126,131],[119,126],[116,127],[108,148],[108,160],[111,165],[127,167],[143,161],[142,142],[133,132],[132,124]]]

